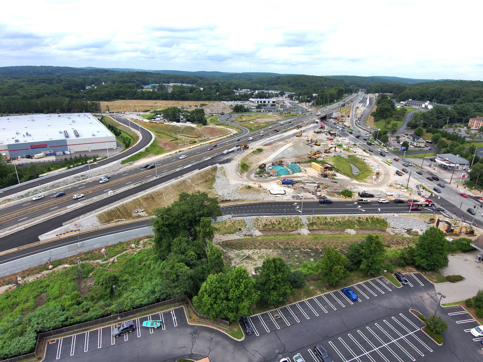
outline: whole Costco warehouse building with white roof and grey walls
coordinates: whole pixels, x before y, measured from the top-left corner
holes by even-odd
[[[90,113],[0,117],[0,127],[3,157],[116,148],[114,134]]]

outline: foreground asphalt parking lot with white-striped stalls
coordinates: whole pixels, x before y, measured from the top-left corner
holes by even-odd
[[[340,290],[250,316],[255,332],[235,341],[217,330],[189,325],[182,307],[134,319],[133,333],[112,337],[114,326],[64,336],[48,343],[45,359],[55,361],[174,362],[180,358],[212,362],[276,361],[300,353],[305,362],[320,362],[313,347],[321,344],[334,362],[482,361],[481,338],[465,328],[477,325],[460,315],[461,308],[439,308],[448,321],[443,346],[421,331],[419,313],[437,307],[434,286],[419,273],[407,275],[411,284],[396,288],[379,277],[351,287],[358,301]],[[413,310],[413,313],[410,312]],[[145,320],[161,320],[162,328],[142,327]]]

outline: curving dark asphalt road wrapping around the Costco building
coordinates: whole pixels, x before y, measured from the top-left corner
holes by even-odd
[[[121,117],[121,116],[111,116],[113,117],[116,121],[128,126],[129,126],[129,122],[126,118],[124,117]],[[137,129],[137,128],[136,128]],[[127,150],[121,152],[121,153],[118,153],[116,155],[114,155],[113,157],[110,157],[108,159],[103,159],[103,160],[100,160],[97,162],[96,166],[104,166],[104,165],[107,165],[113,161],[116,161],[118,159],[123,159],[129,155],[132,155],[133,153],[139,151],[140,149],[142,149],[142,147],[144,146],[147,146],[151,143],[152,141],[152,138],[153,136],[151,135],[151,133],[143,128],[140,128],[140,129],[137,129],[141,132],[142,134],[142,140],[140,142],[138,142],[138,144],[132,146],[131,148],[128,148]],[[75,175],[75,174],[82,174],[84,172],[88,172],[88,165],[85,165],[84,168],[80,168],[80,169],[77,169],[77,170],[72,170],[70,173],[68,174],[63,174],[61,177],[67,177],[67,176],[72,176],[72,175]],[[44,178],[43,180],[40,180],[39,182],[32,182],[30,184],[27,184],[27,185],[21,185],[21,186],[18,186],[14,189],[12,189],[12,192],[21,192],[21,191],[26,191],[32,187],[36,187],[38,184],[40,185],[45,185],[45,184],[48,184],[49,182],[52,182],[52,181],[55,181],[55,179],[57,178],[57,180],[59,179],[59,175],[58,174],[54,174],[52,175],[51,177],[47,177],[47,178]],[[0,190],[2,191],[2,190]],[[10,190],[9,190],[10,191]]]

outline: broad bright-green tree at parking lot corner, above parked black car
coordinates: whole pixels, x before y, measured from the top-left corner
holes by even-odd
[[[251,314],[251,305],[258,299],[254,287],[255,280],[241,266],[226,275],[208,275],[198,295],[193,297],[193,306],[211,318],[236,320]]]

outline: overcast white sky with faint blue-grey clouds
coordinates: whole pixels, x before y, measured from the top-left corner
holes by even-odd
[[[481,1],[330,2],[5,1],[0,65],[483,78]]]

